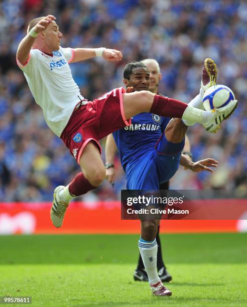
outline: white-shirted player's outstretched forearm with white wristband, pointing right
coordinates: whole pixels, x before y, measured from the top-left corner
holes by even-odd
[[[118,50],[107,48],[75,48],[74,57],[70,63],[76,63],[87,59],[102,56],[107,61],[120,61],[122,54]]]

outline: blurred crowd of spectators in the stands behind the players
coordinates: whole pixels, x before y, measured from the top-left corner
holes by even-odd
[[[122,86],[128,62],[155,58],[163,75],[160,92],[189,102],[199,92],[203,60],[218,67],[217,83],[239,101],[217,134],[200,125],[188,130],[194,160],[219,161],[213,175],[179,170],[174,189],[247,187],[247,3],[233,0],[3,0],[0,3],[0,197],[2,201],[51,201],[79,167],[47,127],[23,73],[16,50],[29,21],[52,14],[63,33],[62,47],[109,47],[119,63],[102,58],[72,64],[84,97],[92,100]],[[104,140],[102,140],[104,144]],[[104,153],[102,155],[104,159]],[[125,174],[116,158],[114,188],[105,181],[83,200],[118,199]]]

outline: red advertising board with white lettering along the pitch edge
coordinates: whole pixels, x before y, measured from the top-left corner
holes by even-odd
[[[0,234],[16,233],[139,233],[140,221],[121,220],[120,202],[74,202],[64,224],[50,220],[51,203],[0,203]],[[246,231],[245,220],[162,220],[161,232]]]

